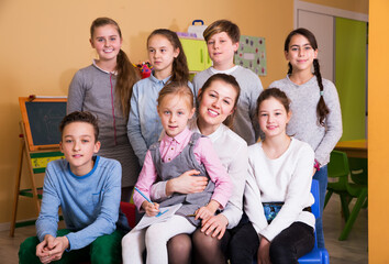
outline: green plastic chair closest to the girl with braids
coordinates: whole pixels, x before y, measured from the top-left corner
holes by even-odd
[[[367,185],[348,183],[349,166],[347,155],[344,152],[333,151],[331,153],[329,163],[329,177],[336,178],[337,182],[329,183],[327,193],[325,195],[324,208],[327,205],[332,194],[337,194],[341,197],[342,211],[345,218],[345,227],[338,240],[346,240],[353,224],[367,199]],[[356,198],[356,202],[352,212],[349,213],[349,202],[353,198]]]

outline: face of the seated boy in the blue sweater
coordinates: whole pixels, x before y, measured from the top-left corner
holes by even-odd
[[[100,142],[96,142],[92,124],[73,122],[64,128],[59,147],[70,164],[71,173],[82,176],[93,168],[92,156],[99,152]]]

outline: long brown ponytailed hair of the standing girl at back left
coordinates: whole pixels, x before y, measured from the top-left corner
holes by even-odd
[[[95,29],[104,25],[113,25],[120,38],[122,38],[122,32],[119,28],[119,24],[109,18],[98,18],[96,19],[90,26],[90,37],[93,37]],[[120,50],[116,56],[116,70],[118,79],[115,86],[116,98],[120,99],[120,106],[125,119],[129,118],[130,113],[130,100],[132,96],[132,87],[134,84],[141,79],[138,70],[130,62],[127,55]]]

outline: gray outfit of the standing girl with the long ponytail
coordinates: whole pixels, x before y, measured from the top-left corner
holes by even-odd
[[[67,113],[89,111],[98,118],[101,142],[99,155],[121,163],[122,187],[127,187],[135,185],[140,166],[129,142],[127,122],[119,99],[115,98],[115,75],[100,69],[95,64],[79,69],[69,86]]]

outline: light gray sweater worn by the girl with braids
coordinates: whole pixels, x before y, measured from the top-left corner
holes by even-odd
[[[287,133],[310,144],[321,166],[330,162],[330,153],[343,132],[336,87],[327,79],[323,79],[323,86],[324,101],[330,109],[324,127],[318,122],[316,106],[320,99],[320,89],[315,76],[302,85],[292,82],[287,76],[287,78],[276,80],[269,86],[284,90],[291,100],[292,116],[287,125]]]

